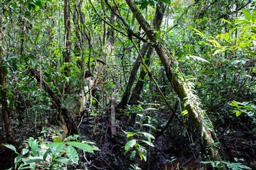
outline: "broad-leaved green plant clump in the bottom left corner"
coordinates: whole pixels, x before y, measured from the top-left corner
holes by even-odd
[[[65,169],[65,165],[79,164],[77,149],[92,154],[99,150],[98,147],[89,145],[87,142],[70,141],[77,140],[78,137],[78,135],[69,136],[63,142],[60,137],[54,137],[54,142],[47,142],[48,144],[43,142],[43,138],[38,142],[33,137],[29,137],[20,154],[13,145],[4,146],[18,154],[14,159],[15,169]]]

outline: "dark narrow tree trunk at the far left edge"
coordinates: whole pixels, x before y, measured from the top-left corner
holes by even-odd
[[[6,97],[6,90],[5,89],[5,81],[6,81],[6,67],[4,67],[4,50],[3,50],[3,43],[1,42],[2,37],[2,30],[1,30],[1,22],[2,18],[0,16],[0,104],[1,104],[1,118],[0,121],[4,122],[4,130],[6,132],[7,137],[11,137],[11,120],[9,118],[9,110],[8,110],[8,103]]]

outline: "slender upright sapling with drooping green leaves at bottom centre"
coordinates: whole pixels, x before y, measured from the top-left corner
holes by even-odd
[[[155,108],[147,108],[144,110],[142,106],[136,106],[138,112],[144,112],[144,111],[150,111],[150,110],[155,110]],[[144,126],[147,126],[149,128],[154,128],[154,126],[150,125],[151,123],[151,118],[146,115],[144,116],[142,113],[138,113],[137,115],[139,116],[140,122],[136,122],[139,124],[139,130],[136,132],[123,132],[127,135],[127,137],[137,137],[136,139],[129,140],[129,142],[126,143],[124,146],[125,153],[127,153],[129,150],[132,149],[132,152],[130,154],[130,159],[134,159],[136,153],[139,154],[140,159],[144,159],[146,161],[146,148],[142,145],[142,143],[148,145],[149,147],[155,147],[154,144],[151,142],[151,139],[154,139],[154,136],[151,135],[149,132],[142,132],[142,128]],[[148,119],[148,123],[143,123],[144,120]],[[143,138],[146,138],[146,140],[143,140]]]

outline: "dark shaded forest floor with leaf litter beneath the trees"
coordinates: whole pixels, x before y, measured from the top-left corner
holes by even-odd
[[[189,123],[187,127],[191,127]],[[246,118],[240,116],[233,122],[226,121],[222,127],[220,125],[215,125],[215,127],[221,143],[220,154],[223,159],[230,163],[240,159],[238,162],[249,166],[251,169],[256,169],[256,136],[255,132],[252,132],[255,125],[248,124]],[[9,143],[15,145],[16,148],[23,145],[23,140],[33,136],[33,133],[29,133],[28,128],[26,125],[18,125],[14,128],[14,140],[1,139],[0,170],[14,166],[14,158],[16,157],[11,149],[7,149],[2,144]],[[191,129],[193,128],[191,127]],[[100,151],[95,152],[95,155],[88,154],[87,160],[90,160],[90,164],[87,166],[89,169],[102,167],[105,169],[129,169],[134,163],[138,164],[141,169],[152,170],[211,169],[210,164],[201,163],[205,157],[201,153],[200,142],[195,133],[192,130],[191,132],[184,132],[184,128],[178,123],[169,127],[163,135],[154,141],[156,147],[146,148],[147,162],[140,161],[138,155],[135,160],[129,160],[129,154],[124,154],[124,148],[122,148],[129,140],[122,130],[128,130],[128,128],[122,124],[122,121],[119,121],[117,122],[117,130],[119,132],[117,137],[112,139],[107,118],[100,115],[82,121],[80,128],[82,140],[95,142],[100,148]],[[152,134],[154,135],[154,132]],[[41,134],[38,133],[37,135]],[[81,158],[81,162],[85,162],[85,159]],[[82,168],[85,167],[80,166],[80,169]]]

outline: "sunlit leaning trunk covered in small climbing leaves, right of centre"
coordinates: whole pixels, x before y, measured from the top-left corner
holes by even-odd
[[[147,38],[149,38],[149,40],[153,43],[153,47],[156,50],[157,55],[159,55],[161,64],[164,66],[164,68],[167,68],[167,70],[171,72],[171,76],[167,76],[171,77],[171,85],[176,91],[176,94],[178,94],[178,97],[181,99],[181,101],[183,101],[188,111],[189,118],[192,120],[192,123],[198,131],[198,134],[201,135],[203,146],[206,145],[206,147],[208,147],[208,150],[210,151],[208,152],[208,154],[213,160],[220,161],[221,158],[218,154],[218,150],[216,149],[213,137],[210,135],[209,129],[206,126],[206,123],[204,123],[203,121],[204,113],[200,108],[200,103],[198,102],[198,100],[196,100],[196,98],[193,98],[193,92],[191,91],[191,89],[188,88],[188,82],[183,78],[181,71],[179,71],[178,73],[178,69],[174,68],[175,58],[166,55],[164,47],[162,47],[161,44],[156,41],[155,30],[153,30],[149,23],[145,20],[141,11],[139,11],[134,2],[132,0],[125,1],[127,2],[129,8],[131,8],[132,13],[135,13],[137,21],[146,33]],[[171,57],[171,62],[169,61],[169,57]],[[167,72],[166,74],[168,74],[169,72]],[[175,74],[178,74],[178,77],[174,76]]]

